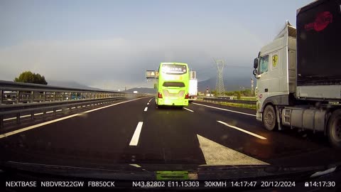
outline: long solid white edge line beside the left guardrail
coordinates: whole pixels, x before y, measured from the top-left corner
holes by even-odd
[[[144,98],[144,97],[138,98],[138,99],[135,99],[135,100],[141,100],[141,99],[143,99],[143,98]],[[112,106],[114,106],[114,105],[119,105],[119,104],[122,104],[122,103],[125,103],[125,102],[132,102],[132,101],[135,101],[135,100],[129,100],[129,101],[124,101],[124,102],[118,102],[118,103],[115,103],[115,104],[113,104],[113,105],[108,105],[108,106],[104,106],[104,107],[99,107],[99,108],[94,109],[94,110],[88,110],[88,111],[86,111],[86,112],[81,112],[81,113],[77,113],[77,114],[71,114],[71,115],[69,115],[69,116],[67,116],[67,117],[62,117],[62,118],[59,118],[59,119],[54,119],[54,120],[51,120],[51,121],[49,121],[49,122],[43,122],[43,123],[40,123],[40,124],[32,125],[32,126],[30,126],[30,127],[25,127],[25,128],[22,128],[22,129],[18,129],[18,130],[15,130],[15,131],[13,131],[13,132],[8,132],[8,133],[5,133],[5,134],[0,134],[0,139],[1,139],[1,138],[4,138],[4,137],[9,137],[9,136],[11,136],[11,135],[13,135],[13,134],[18,134],[18,133],[20,133],[20,132],[25,132],[25,131],[27,131],[27,130],[29,130],[29,129],[35,129],[35,128],[37,128],[37,127],[42,127],[42,126],[44,126],[44,125],[46,125],[46,124],[51,124],[51,123],[54,123],[54,122],[59,122],[59,121],[62,121],[62,120],[64,120],[64,119],[69,119],[69,118],[71,118],[71,117],[81,116],[82,114],[85,114],[85,113],[94,112],[94,111],[97,111],[97,110],[102,110],[102,109],[107,108],[107,107],[112,107]],[[41,113],[41,114],[43,114],[43,113]],[[35,114],[35,115],[36,115],[36,114]]]

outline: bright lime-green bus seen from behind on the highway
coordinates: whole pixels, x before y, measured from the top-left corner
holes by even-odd
[[[156,105],[188,106],[187,63],[161,63],[156,84]]]

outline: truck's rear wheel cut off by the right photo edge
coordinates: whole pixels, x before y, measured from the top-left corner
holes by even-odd
[[[328,122],[328,139],[330,144],[341,149],[341,110],[332,112]]]

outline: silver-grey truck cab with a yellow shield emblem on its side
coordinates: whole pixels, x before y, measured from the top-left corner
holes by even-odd
[[[288,105],[296,91],[296,28],[288,21],[274,41],[261,48],[254,68],[256,118],[262,121],[267,104]]]

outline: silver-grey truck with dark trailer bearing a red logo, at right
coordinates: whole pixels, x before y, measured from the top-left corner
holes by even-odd
[[[268,130],[324,132],[341,149],[341,1],[297,10],[254,59],[256,119]]]

